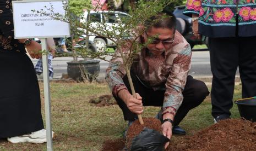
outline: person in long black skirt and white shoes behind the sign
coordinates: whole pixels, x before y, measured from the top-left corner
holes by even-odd
[[[0,0],[0,138],[9,142],[46,142],[40,89],[34,65],[41,45],[14,39],[12,1]],[[53,41],[53,39],[52,39]],[[25,50],[26,48],[26,50]]]

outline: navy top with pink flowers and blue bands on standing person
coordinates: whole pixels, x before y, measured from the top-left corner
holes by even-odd
[[[256,36],[256,0],[188,0],[186,15],[199,15],[199,33],[208,37]],[[236,19],[237,18],[237,19]]]

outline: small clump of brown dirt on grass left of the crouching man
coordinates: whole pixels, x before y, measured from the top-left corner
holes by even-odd
[[[117,104],[115,98],[112,95],[102,95],[100,97],[91,98],[89,102],[96,104],[97,107],[105,107]]]

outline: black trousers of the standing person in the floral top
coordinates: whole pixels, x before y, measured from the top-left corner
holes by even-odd
[[[242,97],[256,96],[256,36],[209,38],[212,115],[230,116],[233,106],[235,75],[239,67]]]

